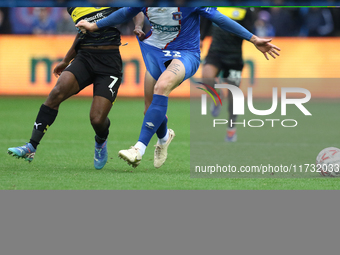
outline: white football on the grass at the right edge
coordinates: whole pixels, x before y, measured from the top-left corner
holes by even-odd
[[[340,149],[329,147],[320,151],[316,168],[322,176],[340,177]]]

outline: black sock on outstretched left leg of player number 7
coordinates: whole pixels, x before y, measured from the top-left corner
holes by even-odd
[[[44,104],[41,105],[30,139],[30,143],[35,149],[37,148],[47,129],[53,124],[57,114],[58,110],[54,110]]]

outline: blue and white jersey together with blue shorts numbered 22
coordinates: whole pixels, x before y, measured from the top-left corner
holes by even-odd
[[[200,63],[200,16],[243,39],[253,36],[237,22],[213,7],[124,7],[97,22],[98,28],[124,23],[143,12],[151,31],[139,42],[147,70],[157,80],[173,59],[185,67],[184,80],[195,74]]]

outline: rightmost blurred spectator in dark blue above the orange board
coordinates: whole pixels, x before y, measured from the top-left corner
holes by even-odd
[[[308,8],[304,15],[304,36],[327,36],[334,30],[332,13],[328,8]]]

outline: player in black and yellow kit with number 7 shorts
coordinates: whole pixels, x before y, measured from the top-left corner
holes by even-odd
[[[80,20],[97,22],[116,10],[118,8],[67,8],[75,24]],[[144,16],[141,18],[144,19]],[[138,15],[135,19],[138,19]],[[9,148],[8,153],[31,162],[40,140],[57,117],[59,105],[93,84],[90,121],[96,134],[94,167],[102,169],[108,158],[107,137],[110,127],[108,114],[117,97],[122,79],[120,45],[120,32],[115,27],[86,34],[79,31],[73,45],[53,70],[54,75],[59,78],[40,107],[30,141],[26,145]]]

